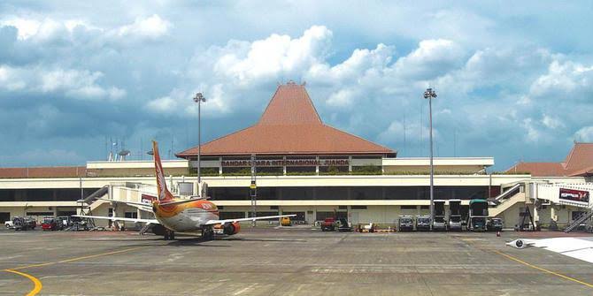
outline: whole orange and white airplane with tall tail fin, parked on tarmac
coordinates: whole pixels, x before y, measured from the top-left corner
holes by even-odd
[[[154,155],[154,165],[157,174],[158,197],[152,201],[152,205],[142,202],[131,201],[113,201],[126,204],[128,206],[153,213],[156,219],[135,219],[114,216],[79,216],[82,218],[106,219],[112,221],[129,221],[152,224],[152,232],[157,235],[163,235],[165,239],[175,239],[175,232],[196,232],[201,231],[202,237],[212,239],[214,236],[214,226],[221,225],[222,232],[227,235],[234,235],[241,229],[239,222],[255,221],[265,219],[276,219],[284,216],[297,215],[279,215],[279,216],[256,216],[239,219],[219,219],[219,209],[207,198],[197,197],[193,199],[174,198],[173,194],[166,188],[165,174],[163,165],[158,155],[158,144],[152,141],[152,152]],[[203,194],[204,195],[204,194]]]

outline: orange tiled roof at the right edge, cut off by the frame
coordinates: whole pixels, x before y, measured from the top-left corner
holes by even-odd
[[[535,177],[575,177],[593,174],[593,143],[575,142],[562,163],[517,163],[508,172],[529,172]]]

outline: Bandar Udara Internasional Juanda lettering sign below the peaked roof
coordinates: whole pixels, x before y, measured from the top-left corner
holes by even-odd
[[[223,167],[250,167],[255,162],[258,167],[266,166],[348,166],[348,159],[258,159],[223,160]]]

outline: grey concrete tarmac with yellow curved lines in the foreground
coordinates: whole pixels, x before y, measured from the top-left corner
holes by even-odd
[[[530,235],[2,230],[0,295],[593,295],[593,264],[504,245]]]

